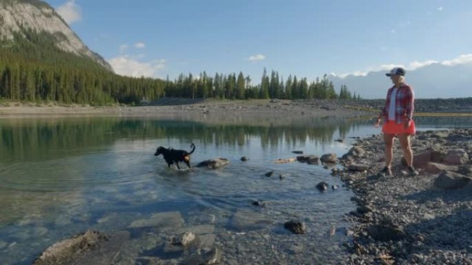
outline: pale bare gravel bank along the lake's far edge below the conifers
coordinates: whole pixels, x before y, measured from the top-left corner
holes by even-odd
[[[357,104],[357,105],[356,105]],[[57,105],[53,103],[0,104],[0,118],[14,116],[169,116],[169,115],[207,115],[207,116],[335,116],[357,117],[377,116],[380,107],[365,107],[365,102],[345,100],[188,100],[162,98],[154,105],[142,106],[90,106]],[[449,111],[415,112],[415,116],[472,116],[472,112]]]

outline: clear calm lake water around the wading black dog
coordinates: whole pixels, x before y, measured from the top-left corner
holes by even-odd
[[[416,122],[420,130],[472,125],[471,118],[419,117]],[[342,233],[348,226],[342,217],[355,209],[349,200],[353,193],[345,188],[317,191],[320,181],[342,187],[322,165],[274,161],[295,157],[293,150],[342,156],[352,137],[379,132],[372,124],[372,120],[327,118],[268,123],[0,119],[0,264],[31,264],[48,246],[76,233],[127,229],[134,220],[159,212],[179,211],[189,225],[201,224],[202,215],[212,215],[216,233],[246,232],[231,222],[244,210],[262,211],[272,221],[257,227],[261,233],[283,234],[283,223],[293,218],[304,220],[311,231],[335,225],[339,229],[335,237],[327,236],[327,231],[306,236],[322,261],[323,255],[333,255],[333,246],[339,250],[340,243],[348,240]],[[230,165],[216,171],[179,171],[153,156],[159,145],[190,149],[190,142],[197,147],[193,165],[219,157],[228,158]],[[241,162],[242,156],[250,160]],[[273,170],[282,172],[284,180],[264,176]],[[253,200],[267,205],[257,209]]]

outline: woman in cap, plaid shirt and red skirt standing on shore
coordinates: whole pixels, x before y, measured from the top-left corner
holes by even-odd
[[[410,144],[410,136],[415,134],[415,123],[412,119],[415,108],[413,87],[405,83],[405,70],[402,67],[393,68],[386,76],[390,76],[393,87],[387,92],[385,107],[375,123],[375,127],[379,127],[384,119],[382,132],[385,140],[385,167],[380,173],[392,175],[393,141],[397,136],[408,166],[409,176],[417,176],[418,172],[413,168],[413,151]]]

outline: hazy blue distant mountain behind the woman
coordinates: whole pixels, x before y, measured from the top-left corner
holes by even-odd
[[[385,98],[391,87],[388,71],[369,72],[366,76],[344,78],[328,75],[336,88],[346,85],[362,98]],[[472,65],[433,63],[416,70],[406,70],[406,83],[413,85],[416,98],[466,98],[472,96]]]

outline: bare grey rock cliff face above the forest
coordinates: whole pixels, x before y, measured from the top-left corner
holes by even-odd
[[[99,54],[92,52],[69,28],[57,12],[43,1],[0,0],[0,41],[15,41],[25,37],[26,30],[47,33],[55,46],[64,52],[86,56],[112,72],[112,67]]]

